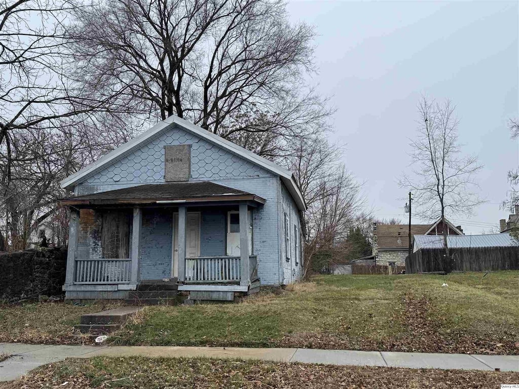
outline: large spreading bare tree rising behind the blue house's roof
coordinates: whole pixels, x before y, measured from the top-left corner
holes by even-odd
[[[280,0],[106,0],[74,15],[89,99],[143,120],[177,115],[270,158],[329,129],[332,110],[303,78],[313,30],[291,25]]]

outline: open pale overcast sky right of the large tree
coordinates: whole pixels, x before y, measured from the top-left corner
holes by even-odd
[[[374,215],[407,220],[398,177],[409,171],[420,94],[457,105],[459,137],[485,168],[488,203],[457,216],[466,233],[498,226],[517,167],[507,121],[519,116],[519,2],[292,1],[294,22],[315,26],[319,74],[312,82],[337,108],[333,140],[361,182]],[[419,223],[420,220],[413,222]]]

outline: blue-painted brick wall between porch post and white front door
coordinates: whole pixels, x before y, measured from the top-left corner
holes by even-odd
[[[141,280],[171,277],[173,213],[170,210],[144,209],[141,229]]]

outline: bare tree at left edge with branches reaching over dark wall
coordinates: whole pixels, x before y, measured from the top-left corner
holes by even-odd
[[[34,221],[58,196],[62,174],[76,170],[84,146],[73,118],[102,107],[80,97],[66,77],[72,63],[62,26],[76,7],[69,0],[0,1],[2,249],[24,248]],[[73,155],[60,160],[67,147]]]

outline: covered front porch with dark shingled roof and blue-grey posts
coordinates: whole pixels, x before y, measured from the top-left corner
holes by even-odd
[[[264,202],[212,183],[142,185],[65,199],[71,210],[66,296],[125,299],[154,283],[249,293],[259,285],[253,218]]]

